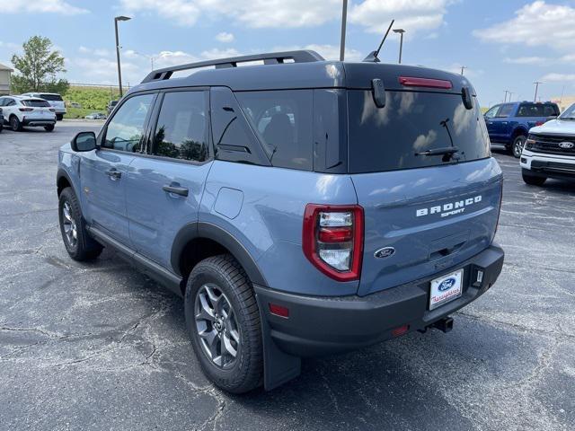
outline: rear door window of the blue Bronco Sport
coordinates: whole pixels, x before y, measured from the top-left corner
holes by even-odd
[[[173,159],[208,159],[206,92],[167,92],[155,127],[152,153]]]

